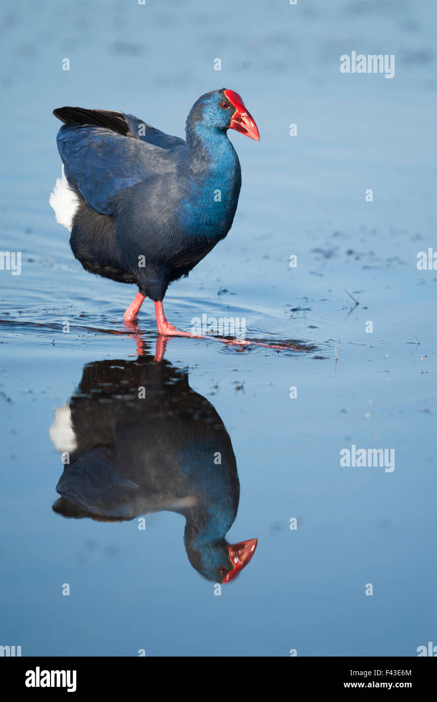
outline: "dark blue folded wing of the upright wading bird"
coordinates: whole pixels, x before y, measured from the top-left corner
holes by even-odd
[[[126,188],[172,169],[171,152],[98,126],[65,125],[57,142],[67,177],[101,214]]]

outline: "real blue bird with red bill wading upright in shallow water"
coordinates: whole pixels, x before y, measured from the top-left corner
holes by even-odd
[[[148,297],[159,335],[193,336],[167,321],[162,300],[232,226],[241,168],[227,131],[259,141],[241,96],[229,88],[204,93],[188,114],[185,140],[124,112],[53,114],[64,123],[63,166],[50,204],[71,232],[74,257],[91,273],[138,286],[124,322],[136,322]]]

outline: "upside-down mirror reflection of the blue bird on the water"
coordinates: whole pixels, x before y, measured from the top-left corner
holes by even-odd
[[[99,522],[176,512],[190,564],[214,583],[233,581],[252,559],[256,538],[226,540],[240,499],[230,437],[185,369],[148,353],[86,364],[50,437],[65,463],[54,512]]]

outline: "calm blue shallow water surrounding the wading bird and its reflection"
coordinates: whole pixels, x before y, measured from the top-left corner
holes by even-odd
[[[6,2],[1,249],[22,252],[22,271],[0,270],[0,644],[22,655],[415,656],[435,637],[437,271],[417,270],[417,253],[437,250],[435,8],[250,6]],[[395,78],[341,74],[352,50],[395,54]],[[155,364],[152,304],[126,328],[133,287],[87,274],[48,206],[51,110],[121,109],[183,135],[194,100],[223,85],[261,142],[230,135],[233,228],[164,309],[187,330],[202,314],[244,318],[248,339],[289,348],[171,338]],[[126,399],[139,377],[145,397]],[[52,510],[71,435],[51,428],[66,406],[92,418],[85,453],[116,437],[122,475],[114,492],[110,459],[93,453],[69,488],[76,519]],[[202,469],[211,418],[220,475]],[[394,470],[341,466],[352,445],[393,449]],[[183,516],[164,509],[187,507],[172,492],[181,455],[196,486],[213,475],[213,517],[221,475],[237,470],[226,538],[258,538],[220,596],[190,563]],[[146,474],[161,462],[169,494],[150,513]],[[123,479],[145,482],[135,500]],[[91,519],[96,501],[122,521]]]

